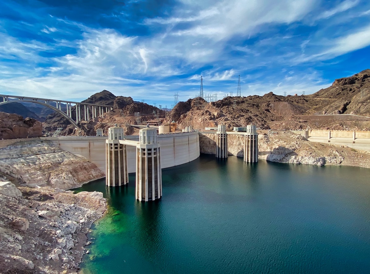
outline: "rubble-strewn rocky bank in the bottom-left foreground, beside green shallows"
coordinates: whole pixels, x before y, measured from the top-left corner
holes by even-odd
[[[21,190],[21,191],[20,191]],[[0,184],[1,273],[77,273],[102,193]]]

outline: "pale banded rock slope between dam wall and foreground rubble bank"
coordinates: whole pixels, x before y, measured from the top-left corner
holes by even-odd
[[[55,147],[50,141],[22,141],[0,148],[0,173],[27,186],[70,189],[104,177],[86,158]]]

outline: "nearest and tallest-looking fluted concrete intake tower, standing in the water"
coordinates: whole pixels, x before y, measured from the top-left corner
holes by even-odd
[[[140,129],[136,145],[136,189],[138,201],[154,201],[162,197],[161,148],[155,128]]]

